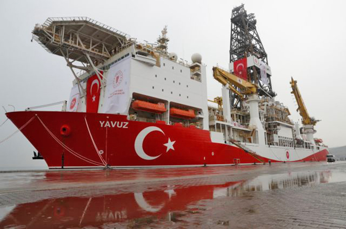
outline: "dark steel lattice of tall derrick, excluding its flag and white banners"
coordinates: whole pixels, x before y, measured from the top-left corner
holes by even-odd
[[[267,53],[259,38],[256,28],[257,20],[255,14],[247,13],[244,4],[235,7],[232,10],[231,17],[231,38],[229,58],[230,63],[250,56],[256,57],[260,62],[268,65]],[[272,90],[270,76],[267,77],[268,83],[263,84],[260,80],[260,69],[255,66],[247,68],[249,81],[258,85],[260,96],[275,97],[276,94]],[[232,107],[239,108],[241,101],[236,93],[232,93]]]

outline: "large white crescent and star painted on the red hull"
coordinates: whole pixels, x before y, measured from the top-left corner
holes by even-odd
[[[153,131],[159,131],[165,135],[165,133],[159,127],[148,126],[139,132],[139,134],[137,135],[137,137],[134,141],[135,152],[137,153],[137,155],[140,158],[142,158],[144,160],[154,160],[154,159],[156,159],[162,155],[162,153],[161,153],[160,155],[157,155],[157,156],[149,156],[143,150],[143,141],[144,141],[145,137]],[[168,138],[168,142],[166,144],[163,144],[165,147],[167,147],[166,153],[169,152],[170,150],[174,150],[174,147],[173,147],[174,143],[175,143],[175,141],[171,141],[171,138]]]

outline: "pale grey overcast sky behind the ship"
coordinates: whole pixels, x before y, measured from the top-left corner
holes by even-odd
[[[346,145],[346,1],[265,0],[32,0],[0,1],[0,106],[7,111],[68,100],[73,76],[60,56],[31,42],[36,23],[48,17],[87,16],[129,34],[156,41],[168,25],[169,51],[190,61],[202,55],[207,65],[208,98],[221,95],[212,76],[216,64],[228,68],[230,17],[233,7],[245,3],[255,13],[257,30],[268,54],[276,99],[300,116],[290,94],[290,78],[298,80],[311,116],[321,119],[315,137],[330,147]],[[58,107],[57,109],[59,109]],[[0,107],[0,123],[6,117]],[[16,130],[7,121],[0,140]],[[34,147],[18,133],[0,144],[0,167],[42,166],[31,160]]]

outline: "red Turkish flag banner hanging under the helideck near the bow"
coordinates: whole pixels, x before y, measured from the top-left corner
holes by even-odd
[[[101,75],[102,74],[101,71]],[[101,82],[96,74],[87,79],[87,113],[97,113],[100,99],[100,86]]]

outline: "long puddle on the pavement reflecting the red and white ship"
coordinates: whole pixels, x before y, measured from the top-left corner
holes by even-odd
[[[251,191],[277,190],[346,181],[345,172],[291,172],[265,174],[247,181],[213,185],[185,184],[165,190],[64,197],[0,208],[0,228],[82,228],[130,222],[133,228],[155,221],[179,221],[199,200],[251,196]],[[188,210],[187,210],[188,209]],[[203,210],[203,209],[199,209]],[[198,213],[198,209],[195,213]],[[185,211],[185,212],[184,212]],[[194,213],[194,212],[192,212]]]

